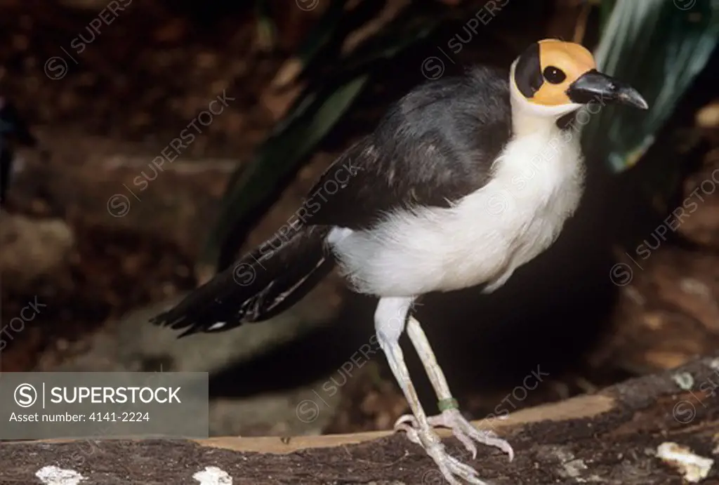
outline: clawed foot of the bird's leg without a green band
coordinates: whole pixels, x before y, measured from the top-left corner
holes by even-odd
[[[395,422],[395,430],[405,431],[410,441],[424,448],[449,484],[461,485],[461,482],[457,480],[459,478],[470,484],[487,485],[486,482],[479,479],[474,468],[450,456],[444,449],[437,433],[432,428],[421,427],[413,415],[401,416]]]

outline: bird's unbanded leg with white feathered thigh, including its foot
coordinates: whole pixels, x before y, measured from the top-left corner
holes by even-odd
[[[377,342],[387,356],[395,379],[402,388],[409,407],[412,410],[414,426],[400,426],[407,432],[408,438],[421,445],[439,467],[439,471],[446,481],[452,485],[460,485],[457,478],[464,479],[470,484],[486,485],[477,478],[477,471],[452,456],[449,456],[441,443],[439,436],[432,429],[427,415],[422,409],[417,392],[409,377],[409,370],[405,364],[399,339],[404,330],[407,315],[411,308],[413,298],[385,297],[380,299],[375,312],[375,328]],[[396,427],[395,427],[396,429]]]

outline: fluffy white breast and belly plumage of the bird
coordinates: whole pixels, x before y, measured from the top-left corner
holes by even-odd
[[[549,247],[579,204],[577,134],[551,129],[508,143],[485,187],[452,208],[390,214],[369,231],[337,228],[328,241],[359,292],[408,297],[489,283]]]

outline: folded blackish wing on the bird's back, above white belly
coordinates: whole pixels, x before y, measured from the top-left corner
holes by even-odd
[[[408,93],[326,170],[303,222],[367,228],[398,208],[448,207],[482,188],[510,137],[507,78],[478,68]]]

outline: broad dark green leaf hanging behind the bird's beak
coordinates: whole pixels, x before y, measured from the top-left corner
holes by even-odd
[[[651,147],[705,68],[719,36],[719,1],[605,0],[603,9],[612,6],[595,50],[597,65],[636,88],[649,111],[606,106],[582,142],[585,152],[621,172]]]

